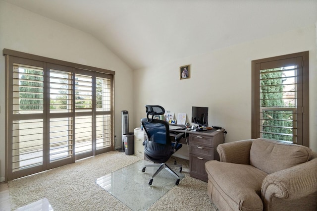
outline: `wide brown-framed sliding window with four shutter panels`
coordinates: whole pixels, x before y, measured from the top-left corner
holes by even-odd
[[[3,50],[7,179],[113,149],[113,71]]]

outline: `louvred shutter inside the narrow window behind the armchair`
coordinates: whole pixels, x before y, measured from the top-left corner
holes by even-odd
[[[297,143],[297,74],[301,67],[260,70],[261,137]]]

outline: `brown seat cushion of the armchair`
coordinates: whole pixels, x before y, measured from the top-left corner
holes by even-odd
[[[207,161],[205,166],[209,180],[232,210],[262,211],[261,186],[267,175],[264,171],[217,160]]]

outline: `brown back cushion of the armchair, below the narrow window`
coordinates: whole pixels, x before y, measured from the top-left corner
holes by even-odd
[[[250,150],[250,164],[271,174],[307,162],[312,150],[302,145],[271,139],[255,139]]]

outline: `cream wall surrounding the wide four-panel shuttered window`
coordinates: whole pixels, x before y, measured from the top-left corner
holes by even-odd
[[[121,146],[121,110],[133,110],[133,71],[90,34],[0,0],[0,50],[32,53],[115,71],[115,135]],[[4,56],[0,56],[0,182],[5,175]],[[129,116],[130,117],[130,116]],[[130,117],[130,121],[133,121]],[[130,131],[133,131],[130,124]]]

